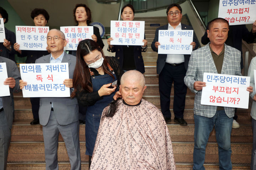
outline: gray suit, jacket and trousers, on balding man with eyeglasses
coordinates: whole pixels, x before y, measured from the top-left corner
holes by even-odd
[[[68,62],[69,78],[73,78],[76,57],[64,53],[62,62]],[[50,63],[50,55],[40,57],[36,60],[36,63]],[[52,104],[54,111],[51,111]],[[76,98],[40,98],[39,105],[39,121],[43,125],[46,169],[58,169],[57,148],[59,132],[66,144],[71,169],[81,169],[78,103]]]

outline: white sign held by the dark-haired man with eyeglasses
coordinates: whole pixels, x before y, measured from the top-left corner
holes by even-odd
[[[191,54],[193,30],[159,30],[158,54]]]

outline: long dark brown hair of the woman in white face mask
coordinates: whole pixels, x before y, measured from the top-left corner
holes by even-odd
[[[85,89],[88,92],[93,92],[92,89],[92,83],[91,83],[91,74],[89,71],[89,67],[86,65],[84,61],[84,56],[89,54],[91,51],[98,50],[101,52],[102,57],[103,57],[103,64],[102,68],[104,73],[107,73],[110,75],[113,80],[114,76],[112,73],[108,70],[108,62],[103,54],[102,49],[100,46],[94,42],[94,40],[91,39],[85,39],[80,41],[78,44],[78,48],[76,51],[76,66],[74,70],[74,76],[73,76],[73,87],[74,87],[74,92],[71,94],[71,97],[75,97],[75,93],[81,92],[83,89]]]

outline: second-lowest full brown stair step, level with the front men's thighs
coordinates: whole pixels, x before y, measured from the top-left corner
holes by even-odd
[[[173,121],[174,114],[172,114],[172,120],[167,127],[173,142],[178,142],[178,139],[183,139],[180,142],[193,142],[194,134],[194,120],[186,117],[193,117],[193,111],[184,113],[187,126],[180,126]],[[12,142],[43,142],[43,131],[41,125],[29,125],[29,121],[24,121],[23,124],[17,124],[12,126],[11,130],[11,141]],[[252,129],[251,122],[249,120],[239,120],[240,128],[232,129],[231,131],[231,142],[233,143],[252,143]],[[216,142],[215,130],[210,133],[208,142]],[[244,137],[244,138],[243,138]],[[85,125],[80,125],[79,130],[80,142],[85,142]],[[63,142],[63,138],[59,135],[59,141]]]

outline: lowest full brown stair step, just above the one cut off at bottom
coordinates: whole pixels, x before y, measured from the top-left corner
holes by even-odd
[[[174,151],[174,158],[176,163],[184,163],[193,161],[193,147],[192,142],[172,142]],[[233,164],[240,165],[250,163],[252,144],[246,143],[231,143],[231,160]],[[80,142],[81,161],[87,162],[88,156],[85,155],[85,142]],[[68,154],[64,142],[59,142],[58,147],[58,160],[68,162]],[[9,148],[8,162],[33,162],[45,161],[44,158],[44,144],[43,142],[12,142]],[[205,162],[211,164],[218,163],[218,144],[208,143],[206,147],[206,160]]]

